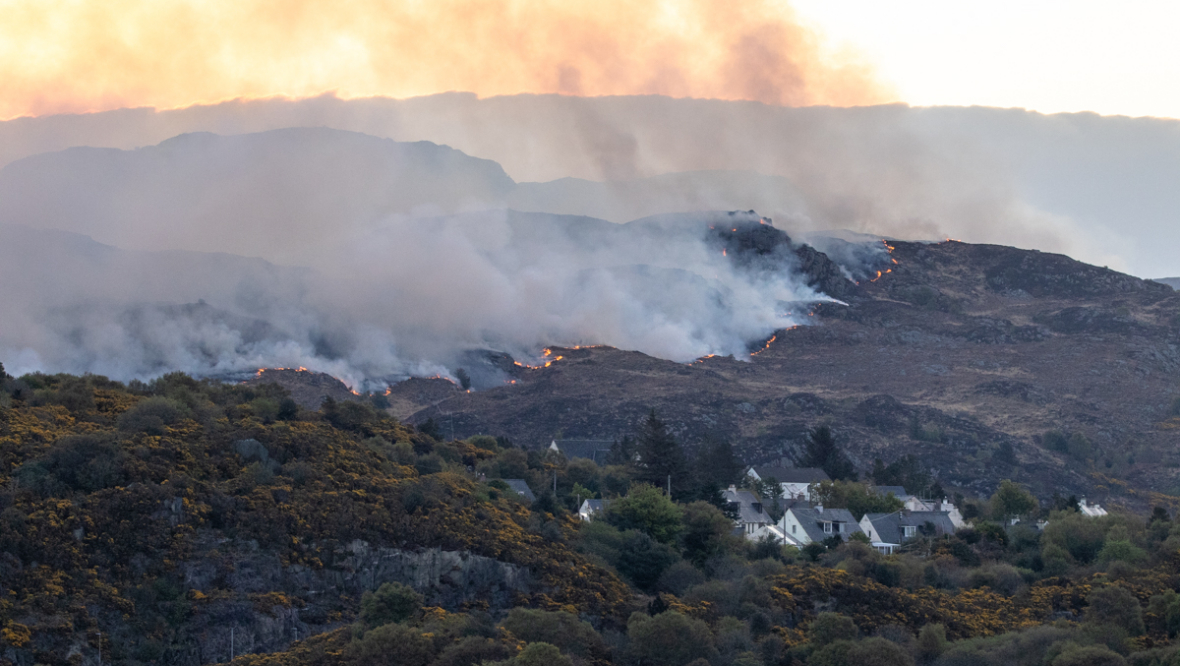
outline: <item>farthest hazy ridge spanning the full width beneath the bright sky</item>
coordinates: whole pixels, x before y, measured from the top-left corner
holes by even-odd
[[[518,182],[758,172],[793,183],[807,204],[799,222],[817,228],[1030,247],[1138,275],[1178,269],[1171,248],[1180,243],[1172,221],[1180,205],[1173,187],[1180,122],[1165,118],[903,105],[794,109],[658,96],[324,96],[8,120],[0,123],[0,164],[77,145],[132,149],[185,132],[291,126],[445,144],[494,159]],[[748,194],[741,187],[728,191]],[[717,208],[754,208],[776,220],[794,210],[763,204],[778,196],[769,195]],[[560,211],[615,220],[598,202],[589,203],[599,208]]]

